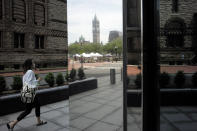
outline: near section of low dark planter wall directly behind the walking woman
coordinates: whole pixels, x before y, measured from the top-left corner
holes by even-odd
[[[42,89],[37,91],[40,104],[46,105],[69,98],[68,85]],[[24,110],[20,93],[0,97],[0,116]]]

